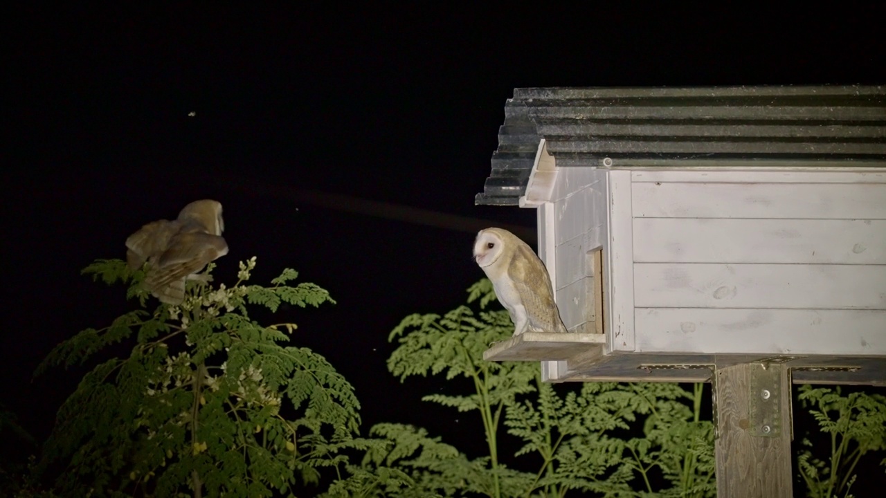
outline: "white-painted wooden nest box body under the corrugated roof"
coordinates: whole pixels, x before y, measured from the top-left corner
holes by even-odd
[[[559,168],[539,206],[539,254],[563,322],[587,331],[585,261],[602,246],[606,346],[542,362],[544,379],[702,380],[704,370],[638,367],[779,355],[864,364],[797,374],[806,381],[883,377],[886,170],[748,166]]]

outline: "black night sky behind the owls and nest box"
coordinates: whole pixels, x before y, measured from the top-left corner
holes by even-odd
[[[338,300],[284,318],[355,385],[365,427],[452,432],[450,417],[419,407],[416,386],[431,382],[404,387],[387,373],[387,335],[405,315],[462,303],[482,276],[470,261],[473,229],[346,213],[300,191],[532,229],[532,210],[473,205],[515,87],[886,83],[879,3],[312,4],[4,14],[0,402],[38,437],[75,381],[56,373],[32,384],[37,362],[128,309],[120,287],[80,269],[122,258],[131,232],[191,200],[224,205],[230,253],[217,281],[233,281],[237,261],[256,255],[256,282],[296,268]]]

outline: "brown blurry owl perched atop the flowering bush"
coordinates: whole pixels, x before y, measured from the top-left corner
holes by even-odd
[[[129,268],[140,268],[147,261],[144,286],[162,302],[181,304],[185,280],[206,280],[197,273],[228,253],[222,231],[221,203],[191,202],[174,221],[150,222],[126,239]]]

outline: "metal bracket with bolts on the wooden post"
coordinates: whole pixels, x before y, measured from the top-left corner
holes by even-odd
[[[750,434],[758,438],[781,436],[781,364],[750,363]],[[790,372],[790,370],[788,370]],[[790,384],[789,384],[790,385]],[[790,428],[788,428],[790,430]]]

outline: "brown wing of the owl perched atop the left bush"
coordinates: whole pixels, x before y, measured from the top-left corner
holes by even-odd
[[[185,279],[198,273],[206,263],[228,253],[224,237],[207,233],[179,233],[167,251],[151,261],[144,285],[159,300],[181,304]]]

